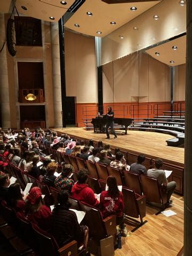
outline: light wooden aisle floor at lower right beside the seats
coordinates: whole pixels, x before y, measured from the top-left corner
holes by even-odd
[[[176,256],[183,246],[183,197],[173,194],[172,199],[172,206],[166,210],[177,215],[155,215],[158,210],[147,206],[148,222],[122,238],[122,249],[117,249],[115,256]]]

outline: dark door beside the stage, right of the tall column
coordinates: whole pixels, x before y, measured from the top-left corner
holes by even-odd
[[[63,109],[63,126],[75,125],[76,97],[65,97]]]

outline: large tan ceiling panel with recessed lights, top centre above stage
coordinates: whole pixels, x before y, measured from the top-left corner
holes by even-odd
[[[158,3],[159,1],[107,4],[101,0],[86,0],[65,23],[65,27],[86,35],[103,37]],[[133,6],[137,7],[137,11],[130,10]],[[91,12],[93,15],[88,16],[86,12]],[[111,21],[115,21],[116,24],[111,25]],[[75,23],[79,27],[75,27]],[[97,31],[101,31],[102,34],[97,34]]]

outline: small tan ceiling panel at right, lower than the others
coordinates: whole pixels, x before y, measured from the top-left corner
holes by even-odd
[[[177,46],[177,50],[173,50],[173,46]],[[184,64],[186,63],[186,36],[158,45],[146,52],[151,55],[151,57],[169,66]],[[159,53],[159,55],[156,55],[155,53]],[[170,63],[170,61],[174,61],[174,63]]]

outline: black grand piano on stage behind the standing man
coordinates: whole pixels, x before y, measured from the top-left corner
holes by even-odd
[[[102,118],[92,118],[92,124],[94,126],[94,132],[105,132],[105,125],[107,124],[107,117],[103,116]],[[122,125],[121,130],[125,129],[125,134],[127,134],[127,127],[131,124],[131,118],[114,118],[114,127],[115,124]],[[99,129],[99,131],[98,131]]]

